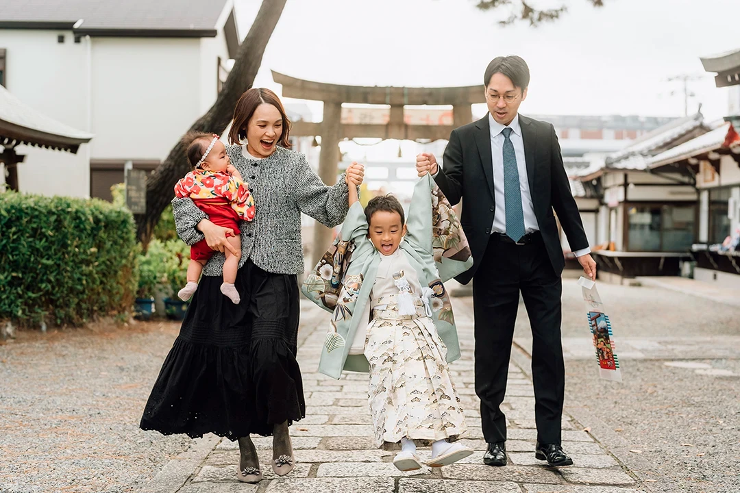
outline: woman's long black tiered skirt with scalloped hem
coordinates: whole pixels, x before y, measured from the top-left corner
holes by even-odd
[[[296,276],[263,271],[247,259],[236,276],[241,302],[203,276],[154,384],[142,429],[236,440],[306,415],[300,368]]]

